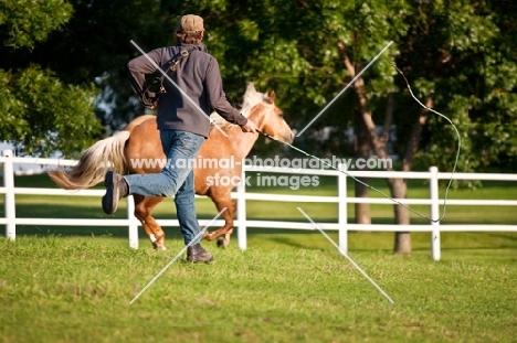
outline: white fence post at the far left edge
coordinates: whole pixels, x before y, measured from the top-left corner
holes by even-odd
[[[14,200],[14,163],[12,162],[12,150],[3,150],[2,156],[9,158],[3,163],[3,186],[6,187],[4,207],[6,207],[6,237],[10,240],[17,238],[17,203]]]

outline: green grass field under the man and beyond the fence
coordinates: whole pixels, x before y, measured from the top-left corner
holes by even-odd
[[[334,195],[335,183],[299,192]],[[45,175],[17,178],[17,186],[50,185]],[[428,196],[425,184],[410,187],[410,197]],[[486,183],[451,193],[460,197],[517,192],[515,184]],[[302,206],[316,222],[337,217],[331,204],[279,204],[249,202],[247,215],[303,221]],[[201,218],[217,213],[207,200],[198,211]],[[350,222],[352,213],[350,206]],[[172,202],[156,214],[173,218]],[[31,195],[17,196],[17,215],[105,217],[99,199]],[[123,205],[114,217],[124,216]],[[392,206],[372,206],[372,216],[391,223]],[[443,222],[516,224],[517,213],[450,206]],[[169,249],[156,253],[141,231],[134,250],[123,227],[17,227],[15,242],[0,239],[0,342],[515,342],[517,233],[442,233],[439,262],[426,233],[412,234],[409,256],[392,254],[391,233],[350,233],[350,257],[391,304],[318,232],[250,228],[247,250],[235,239],[224,250],[205,243],[213,264],[182,256],[129,304],[181,250],[178,229],[166,232]]]

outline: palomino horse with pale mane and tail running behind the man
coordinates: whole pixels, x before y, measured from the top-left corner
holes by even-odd
[[[274,104],[275,94],[262,94],[249,84],[244,94],[242,114],[255,122],[258,130],[273,138],[292,142],[294,135],[283,118],[282,110]],[[233,232],[235,202],[231,191],[235,186],[230,182],[213,182],[213,180],[240,180],[243,159],[250,153],[258,133],[243,133],[241,128],[231,125],[218,115],[214,126],[210,129],[209,139],[204,141],[196,161],[233,160],[236,163],[203,163],[200,168],[194,163],[194,186],[198,195],[209,196],[222,213],[224,226],[204,234],[204,239],[218,239],[218,245],[226,247]],[[224,133],[223,133],[224,132]],[[226,137],[228,136],[228,137]],[[131,161],[165,161],[155,116],[140,116],[129,122],[123,131],[96,142],[85,150],[76,165],[70,172],[62,169],[50,171],[50,178],[61,187],[78,190],[94,186],[104,181],[105,173],[113,169],[117,173],[158,173],[159,163],[131,163]],[[152,164],[152,165],[151,165]],[[214,165],[215,164],[215,165]],[[233,165],[231,165],[233,164]],[[162,165],[161,165],[162,167]],[[208,182],[212,181],[212,182]],[[152,217],[152,208],[162,196],[143,196],[134,194],[135,216],[140,221],[156,249],[165,249],[165,233]],[[222,237],[221,237],[222,236]]]

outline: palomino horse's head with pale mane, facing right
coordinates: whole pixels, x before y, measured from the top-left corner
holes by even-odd
[[[258,93],[250,83],[244,95],[243,114],[247,115],[262,132],[288,143],[293,142],[294,133],[285,122],[284,112],[275,105],[274,92]]]

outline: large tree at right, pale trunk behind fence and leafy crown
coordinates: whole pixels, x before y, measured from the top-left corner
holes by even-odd
[[[391,35],[395,32],[403,32],[398,40],[400,53],[397,54],[395,61],[402,67],[403,73],[414,81],[413,87],[418,89],[416,94],[425,106],[440,108],[458,127],[463,140],[458,161],[460,170],[479,170],[488,165],[490,159],[494,161],[494,157],[498,156],[495,151],[506,154],[511,150],[511,143],[507,141],[509,137],[515,137],[513,136],[515,126],[503,127],[500,124],[493,124],[498,121],[497,118],[500,120],[502,115],[509,121],[515,118],[514,110],[507,108],[508,103],[515,99],[510,95],[517,85],[515,77],[496,76],[500,75],[500,69],[513,71],[516,67],[515,57],[508,53],[511,50],[510,46],[515,46],[515,37],[499,30],[502,23],[509,25],[508,18],[502,18],[503,12],[498,13],[484,1],[474,3],[471,1],[407,1],[404,3],[392,1],[390,6],[399,3],[401,8],[398,13],[403,14],[403,21],[399,21],[402,30],[398,31],[397,20],[391,14],[388,15],[391,9],[383,8],[382,2],[359,1],[357,3],[356,26],[358,31],[356,31],[352,57],[362,57],[360,53],[358,54],[365,45],[360,41],[361,33],[366,33],[363,35],[367,35],[369,41],[374,41],[379,32],[389,32]],[[376,26],[379,21],[374,19],[383,14],[390,18],[390,23],[388,28],[379,29]],[[360,23],[365,22],[368,25],[363,28]],[[502,45],[506,50],[504,54],[502,54]],[[340,43],[340,50],[349,75],[354,77],[355,62],[350,61],[345,44]],[[442,117],[430,116],[425,108],[416,107],[414,99],[408,94],[405,81],[400,77],[394,89],[403,89],[402,92],[391,94],[388,88],[384,88],[389,92],[388,95],[383,95],[387,96],[384,131],[380,136],[376,132],[371,109],[379,112],[382,105],[378,103],[371,106],[369,103],[376,97],[374,83],[382,82],[382,79],[369,79],[368,82],[372,84],[368,87],[361,77],[355,85],[358,106],[376,154],[381,158],[387,157],[386,128],[394,118],[398,120],[399,141],[402,142],[402,144],[399,143],[402,171],[411,170],[415,159],[421,165],[439,165],[441,170],[451,171],[457,144],[450,142],[458,140],[455,131]],[[504,108],[500,106],[503,98]],[[393,99],[395,103],[403,104],[403,107],[400,105],[397,107],[397,112],[407,118],[414,118],[412,122],[401,116],[393,116],[395,106]],[[413,112],[419,112],[419,115],[411,116],[402,108],[413,108]],[[489,135],[486,135],[488,131]],[[486,139],[487,137],[496,137],[499,140],[497,143],[490,142]],[[503,137],[506,140],[503,140]],[[479,159],[477,156],[479,151],[490,149],[494,149],[492,157],[484,153]],[[388,179],[388,185],[391,196],[397,199],[407,196],[408,186],[404,180]],[[409,224],[408,208],[395,205],[394,210],[395,222]],[[409,233],[395,233],[394,251],[409,253],[410,250]]]

